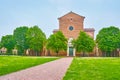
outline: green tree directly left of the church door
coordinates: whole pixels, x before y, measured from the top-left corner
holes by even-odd
[[[50,35],[47,41],[47,49],[53,50],[57,55],[60,50],[67,49],[67,39],[61,31]]]

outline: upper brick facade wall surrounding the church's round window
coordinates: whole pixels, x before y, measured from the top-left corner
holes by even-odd
[[[84,17],[74,13],[69,13],[59,18],[59,30],[63,32],[66,38],[76,39],[80,30],[83,30]],[[70,31],[69,27],[73,26],[73,30]]]

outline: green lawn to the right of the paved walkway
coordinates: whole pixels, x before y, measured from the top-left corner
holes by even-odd
[[[63,80],[120,80],[120,58],[74,58]]]

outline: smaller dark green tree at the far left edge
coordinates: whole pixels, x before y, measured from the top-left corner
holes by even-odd
[[[13,35],[6,35],[2,36],[1,39],[1,47],[7,48],[8,53],[12,53],[12,49],[15,47],[15,39],[13,38]]]

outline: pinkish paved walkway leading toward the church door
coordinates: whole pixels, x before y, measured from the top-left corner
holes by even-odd
[[[39,66],[0,76],[0,80],[62,80],[73,58],[62,58]]]

